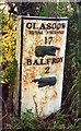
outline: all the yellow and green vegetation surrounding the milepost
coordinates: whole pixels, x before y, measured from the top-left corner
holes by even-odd
[[[2,4],[2,3],[0,3]],[[2,25],[1,83],[3,129],[51,130],[81,129],[81,2],[8,2],[9,13],[0,10]],[[43,120],[30,110],[21,120],[13,111],[13,88],[16,76],[16,20],[18,15],[69,17],[68,43],[66,50],[65,80],[61,109]]]

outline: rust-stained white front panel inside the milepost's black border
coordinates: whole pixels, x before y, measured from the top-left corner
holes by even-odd
[[[27,23],[30,23],[28,27],[26,27]],[[35,29],[33,23],[35,23],[36,26],[40,26],[40,24],[45,25],[45,28],[43,26],[40,29]],[[60,92],[62,88],[66,32],[65,28],[46,28],[47,24],[50,27],[53,23],[57,25],[58,23],[66,23],[66,21],[24,20],[22,110],[25,110],[25,108],[32,109],[33,112],[40,117],[58,110],[60,107],[59,102],[61,102],[59,95],[61,95]],[[31,25],[32,28],[30,28]],[[37,34],[34,31],[37,32]],[[55,33],[59,31],[63,33]],[[43,34],[39,34],[38,32],[43,32]],[[38,56],[39,53],[36,55],[36,47],[39,46],[44,46],[44,50],[46,46],[48,47],[47,51],[40,51],[44,52],[43,57],[42,55]],[[53,47],[58,47],[59,49],[54,50]],[[48,80],[47,82],[42,80],[44,78],[56,78],[56,84],[54,84],[54,81],[49,81],[48,83]]]

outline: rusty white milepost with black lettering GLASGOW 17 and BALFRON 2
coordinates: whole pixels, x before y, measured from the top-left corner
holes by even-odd
[[[20,22],[20,110],[46,118],[61,108],[68,19],[22,16]]]

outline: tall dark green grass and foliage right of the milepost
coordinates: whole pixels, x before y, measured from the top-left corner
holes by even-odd
[[[72,111],[73,116],[78,118],[81,115],[81,79],[80,79],[80,70],[81,70],[81,20],[80,17],[80,8],[77,4],[74,8],[74,15],[70,19],[69,23],[69,33],[68,33],[68,41],[69,48],[67,50],[67,58],[66,58],[66,67],[69,76],[69,84],[68,86],[68,95],[67,95],[67,103],[70,103],[69,109]],[[78,13],[77,13],[78,12]],[[76,16],[78,17],[76,20]],[[66,80],[67,81],[67,80]],[[72,96],[72,97],[71,97]]]

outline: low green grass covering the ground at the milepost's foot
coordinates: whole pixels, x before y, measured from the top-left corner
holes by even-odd
[[[81,129],[81,119],[74,119],[72,122],[72,116],[66,116],[63,112],[58,111],[54,115],[53,119],[43,120],[36,117],[31,110],[26,110],[19,119],[15,116],[10,116],[10,124],[7,127],[9,131],[18,131],[19,129],[28,131],[48,131],[48,130],[66,130],[66,129]]]

